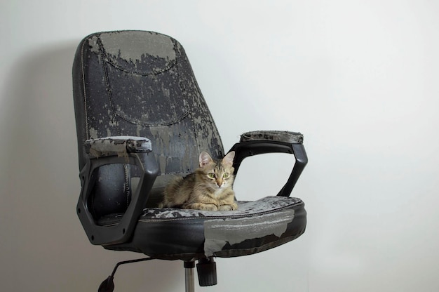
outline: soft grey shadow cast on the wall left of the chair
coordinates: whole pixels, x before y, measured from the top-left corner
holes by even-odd
[[[7,137],[0,204],[1,219],[8,223],[0,227],[5,291],[95,291],[116,261],[142,257],[92,246],[76,216],[80,183],[72,62],[77,44],[48,45],[23,55],[6,81],[8,110],[0,125]],[[167,280],[182,274],[180,263],[121,270],[116,276],[128,277],[130,291],[184,285]],[[126,283],[116,281],[116,286],[123,290],[120,285]]]

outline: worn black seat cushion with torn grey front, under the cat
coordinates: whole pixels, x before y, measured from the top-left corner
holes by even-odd
[[[106,216],[100,225],[117,224],[120,218]],[[104,247],[167,260],[229,258],[285,244],[304,233],[305,227],[304,202],[291,197],[238,201],[236,211],[147,208],[130,242]]]

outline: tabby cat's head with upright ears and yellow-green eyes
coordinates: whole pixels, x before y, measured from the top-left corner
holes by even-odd
[[[208,183],[214,189],[231,187],[234,182],[234,167],[232,166],[234,157],[235,152],[232,151],[222,160],[213,161],[209,154],[201,152],[200,168],[203,170],[205,183]]]

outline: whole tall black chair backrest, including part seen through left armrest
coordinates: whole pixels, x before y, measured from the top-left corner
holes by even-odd
[[[184,48],[156,32],[100,32],[79,44],[73,65],[79,169],[85,140],[140,136],[151,140],[161,173],[148,205],[154,206],[171,175],[198,167],[198,154],[224,156],[217,128]],[[95,218],[123,213],[138,171],[128,164],[98,169],[88,206]]]

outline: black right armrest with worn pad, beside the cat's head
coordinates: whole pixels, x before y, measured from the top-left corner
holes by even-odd
[[[290,197],[299,176],[308,163],[303,145],[304,136],[301,133],[288,131],[253,131],[243,133],[240,142],[231,147],[235,151],[234,168],[238,173],[241,162],[253,155],[265,153],[289,153],[295,156],[295,165],[292,168],[287,183],[278,192],[278,196]]]

